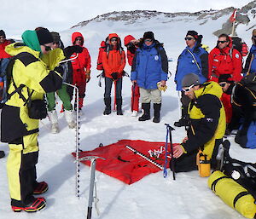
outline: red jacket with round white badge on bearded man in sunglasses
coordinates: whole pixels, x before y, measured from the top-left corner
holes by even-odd
[[[230,74],[230,79],[236,82],[241,80],[241,54],[238,50],[231,48],[232,39],[230,38],[230,44],[226,48],[212,49],[208,56],[209,80],[218,83],[218,77],[221,74]]]

